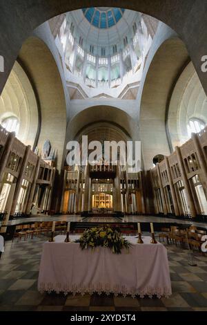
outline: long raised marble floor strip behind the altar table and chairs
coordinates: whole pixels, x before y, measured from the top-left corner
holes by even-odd
[[[91,222],[91,223],[128,223],[128,222],[141,222],[141,223],[179,223],[179,224],[191,224],[195,225],[200,228],[204,228],[207,230],[207,223],[197,223],[188,220],[179,220],[173,218],[164,218],[159,216],[124,216],[124,218],[116,218],[111,216],[100,217],[100,216],[92,216],[88,218],[82,218],[78,215],[67,215],[67,214],[60,214],[55,216],[47,216],[46,214],[41,214],[37,216],[30,216],[30,218],[23,218],[23,219],[14,219],[8,222],[8,225],[18,225],[19,223],[28,223],[28,222],[43,222],[43,221],[70,221],[70,222]],[[0,223],[1,225],[1,223]]]

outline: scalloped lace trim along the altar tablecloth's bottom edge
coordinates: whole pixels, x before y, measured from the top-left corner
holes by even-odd
[[[144,288],[144,289],[137,289],[137,288],[127,288],[126,286],[111,286],[110,284],[92,284],[90,286],[77,286],[75,284],[71,285],[63,285],[63,284],[52,284],[50,282],[48,283],[40,283],[38,285],[38,290],[40,293],[43,293],[47,291],[48,293],[51,293],[52,291],[55,291],[56,293],[64,293],[67,295],[68,293],[72,293],[75,295],[76,293],[81,293],[81,295],[84,295],[86,293],[92,295],[93,293],[98,293],[101,295],[101,293],[106,293],[107,295],[110,295],[110,293],[114,293],[115,296],[121,294],[124,297],[126,295],[130,295],[132,297],[135,297],[136,295],[139,295],[141,298],[144,296],[148,296],[152,298],[153,295],[156,295],[158,298],[161,297],[169,297],[172,294],[171,288],[164,287],[164,288]]]

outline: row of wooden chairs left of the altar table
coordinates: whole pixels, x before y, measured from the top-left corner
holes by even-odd
[[[65,221],[56,221],[55,232],[66,232],[67,223]],[[45,221],[42,223],[32,223],[26,225],[17,225],[15,228],[12,241],[17,238],[18,241],[23,238],[25,241],[33,236],[39,236],[39,234],[48,234],[52,230],[52,221]]]

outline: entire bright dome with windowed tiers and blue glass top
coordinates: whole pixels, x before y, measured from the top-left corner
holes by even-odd
[[[123,8],[67,12],[56,44],[70,97],[135,99],[152,43],[148,24],[140,12]]]

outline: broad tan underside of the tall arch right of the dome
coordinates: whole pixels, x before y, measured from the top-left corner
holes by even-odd
[[[166,132],[166,110],[181,69],[188,62],[188,51],[178,37],[166,39],[152,57],[141,93],[139,126],[145,169],[152,167],[157,154],[170,154]]]

